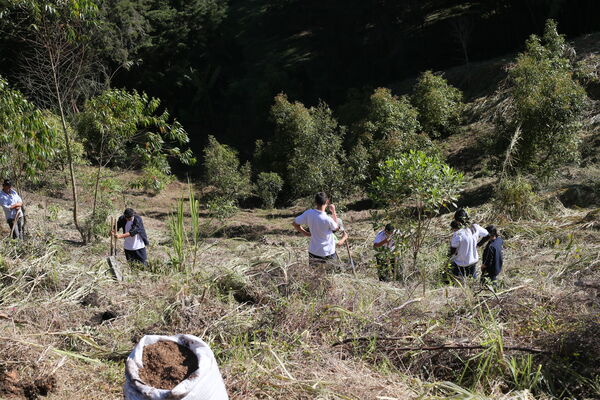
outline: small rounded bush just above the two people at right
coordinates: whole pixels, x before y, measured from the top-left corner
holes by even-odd
[[[540,199],[522,176],[500,180],[494,198],[498,211],[511,219],[536,218],[540,214]]]

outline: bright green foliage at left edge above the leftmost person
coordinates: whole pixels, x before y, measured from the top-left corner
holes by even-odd
[[[0,167],[15,184],[45,169],[56,154],[58,136],[44,114],[0,77]]]

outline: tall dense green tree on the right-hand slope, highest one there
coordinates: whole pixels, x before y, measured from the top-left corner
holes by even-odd
[[[504,121],[503,144],[514,136],[513,171],[547,178],[579,157],[579,133],[587,96],[574,79],[569,47],[546,22],[544,36],[532,35],[509,71],[512,109]]]

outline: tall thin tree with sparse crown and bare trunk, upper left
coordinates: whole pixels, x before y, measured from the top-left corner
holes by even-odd
[[[91,0],[7,0],[0,8],[3,30],[25,44],[21,84],[35,103],[60,116],[73,194],[73,223],[82,236],[68,119],[93,90],[90,39],[97,10]]]

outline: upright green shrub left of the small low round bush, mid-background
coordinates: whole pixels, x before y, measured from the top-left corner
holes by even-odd
[[[237,152],[231,147],[208,137],[204,148],[204,180],[212,186],[213,197],[233,201],[247,198],[252,193],[250,163],[240,166]]]

